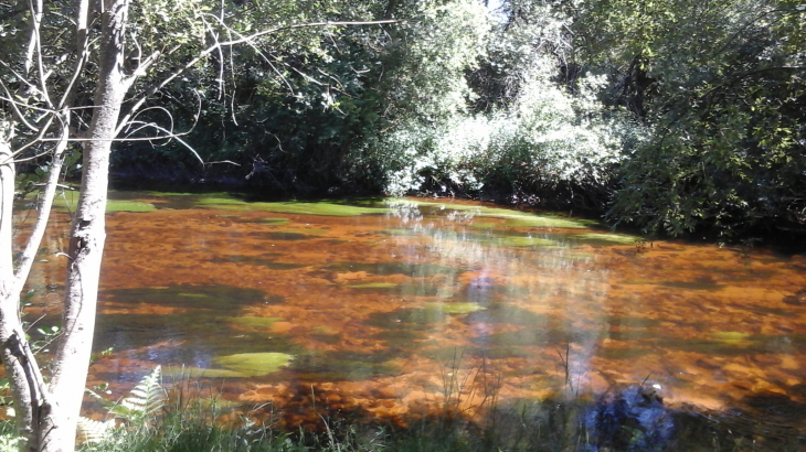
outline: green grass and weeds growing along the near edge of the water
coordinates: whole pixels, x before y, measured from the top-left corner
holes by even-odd
[[[730,334],[729,334],[730,336]],[[454,352],[455,353],[455,352]],[[456,357],[455,357],[456,358]],[[168,391],[159,409],[146,417],[121,418],[118,426],[95,442],[83,442],[83,452],[582,452],[639,451],[643,431],[614,430],[602,442],[591,431],[590,409],[602,400],[516,400],[501,405],[489,394],[479,406],[460,410],[457,395],[467,388],[454,373],[443,375],[443,406],[397,421],[368,417],[361,410],[329,410],[311,406],[304,426],[284,424],[280,407],[271,400],[258,407],[205,395],[200,385],[184,379]],[[311,391],[315,389],[311,387]],[[134,392],[132,392],[134,394]],[[194,395],[194,396],[188,396]],[[704,411],[668,410],[675,437],[653,451],[800,451],[806,440],[776,426],[775,419],[744,422]],[[471,416],[476,416],[470,419]],[[109,420],[110,417],[104,418]],[[13,421],[0,421],[0,451],[15,450]]]

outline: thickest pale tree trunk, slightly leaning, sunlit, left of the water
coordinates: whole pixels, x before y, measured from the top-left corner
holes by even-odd
[[[106,239],[109,152],[120,107],[130,86],[124,72],[124,33],[128,0],[104,0],[95,110],[84,146],[82,190],[71,225],[67,288],[54,373],[49,386],[51,410],[40,426],[40,450],[70,452],[89,367],[100,259]]]

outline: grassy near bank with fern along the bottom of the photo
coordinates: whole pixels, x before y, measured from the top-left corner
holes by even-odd
[[[344,421],[339,415],[294,431],[273,428],[248,417],[224,416],[200,401],[182,411],[170,409],[153,422],[130,424],[84,451],[800,451],[803,439],[781,426],[746,422],[706,413],[668,411],[668,435],[644,430],[636,420],[592,422],[596,401],[520,402],[470,422],[448,412],[394,427],[381,419]],[[609,423],[608,423],[609,422]],[[772,428],[772,429],[771,429]],[[777,433],[775,433],[777,432]]]

